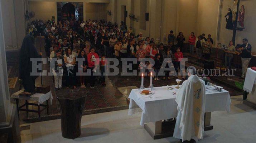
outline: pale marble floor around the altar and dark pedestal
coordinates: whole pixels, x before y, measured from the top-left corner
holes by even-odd
[[[212,113],[213,130],[204,132],[199,143],[253,143],[256,138],[256,111],[242,104],[242,96],[231,97],[231,112]],[[86,115],[82,117],[82,134],[76,139],[61,135],[61,120],[31,123],[21,131],[22,143],[178,143],[169,137],[153,140],[139,125],[140,114],[127,115],[128,110]],[[24,125],[23,125],[24,126]]]

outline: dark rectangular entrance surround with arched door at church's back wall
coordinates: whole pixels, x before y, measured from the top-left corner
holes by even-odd
[[[83,21],[83,2],[57,2],[57,20]]]

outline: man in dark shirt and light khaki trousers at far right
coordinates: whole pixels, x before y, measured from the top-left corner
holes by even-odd
[[[241,46],[241,52],[238,53],[238,55],[241,55],[242,60],[242,76],[241,78],[245,78],[248,65],[250,63],[250,60],[252,58],[252,46],[248,43],[248,39],[243,39],[243,45]]]

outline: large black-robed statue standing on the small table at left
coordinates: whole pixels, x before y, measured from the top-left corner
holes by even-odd
[[[31,94],[35,91],[35,79],[38,76],[31,76],[32,62],[30,58],[41,58],[34,46],[34,38],[27,35],[22,42],[19,58],[19,76],[24,87],[24,94]]]

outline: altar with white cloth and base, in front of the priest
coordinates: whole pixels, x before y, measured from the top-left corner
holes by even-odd
[[[177,117],[177,103],[175,102],[178,89],[173,86],[162,86],[153,89],[152,95],[141,95],[141,89],[133,89],[129,95],[130,105],[128,115],[137,112],[141,108],[140,125],[153,139],[172,136],[172,132],[163,130],[163,120]],[[213,129],[211,125],[211,112],[227,111],[230,112],[231,99],[227,90],[221,92],[214,90],[213,86],[206,85],[206,107],[204,116],[204,130]]]

